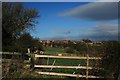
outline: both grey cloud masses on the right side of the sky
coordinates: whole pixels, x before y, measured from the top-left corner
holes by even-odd
[[[113,20],[118,20],[118,8],[117,2],[102,2],[100,0],[100,2],[75,7],[61,16],[97,23],[89,34],[70,36],[71,39],[118,40],[118,24],[112,24]]]

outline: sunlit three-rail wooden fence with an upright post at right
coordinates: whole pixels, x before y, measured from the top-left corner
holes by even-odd
[[[88,55],[86,57],[78,57],[78,56],[51,56],[51,55],[38,55],[34,54],[32,56],[34,59],[36,58],[65,58],[65,59],[84,59],[86,60],[87,64],[86,66],[54,66],[54,65],[36,65],[34,64],[34,68],[78,68],[78,69],[86,69],[86,75],[80,75],[80,74],[64,74],[64,73],[55,73],[55,72],[41,72],[41,71],[35,71],[38,74],[43,75],[54,75],[54,76],[69,76],[69,77],[82,77],[82,78],[104,78],[102,76],[94,76],[89,75],[89,69],[103,69],[103,68],[94,68],[89,66],[89,60],[101,60],[101,57],[89,57]]]

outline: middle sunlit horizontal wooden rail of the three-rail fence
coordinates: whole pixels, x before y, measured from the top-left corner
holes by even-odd
[[[86,66],[52,66],[52,65],[34,65],[36,68],[79,68],[86,69]],[[102,68],[93,68],[88,67],[88,69],[102,69]]]

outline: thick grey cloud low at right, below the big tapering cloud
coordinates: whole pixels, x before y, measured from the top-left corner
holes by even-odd
[[[98,24],[90,34],[81,34],[79,37],[92,40],[118,40],[118,24]]]

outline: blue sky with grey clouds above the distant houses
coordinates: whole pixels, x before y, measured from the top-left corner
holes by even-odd
[[[117,2],[25,2],[40,17],[34,30],[41,40],[117,40]]]

